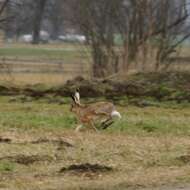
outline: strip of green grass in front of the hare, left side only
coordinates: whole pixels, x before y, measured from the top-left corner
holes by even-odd
[[[0,110],[0,126],[30,129],[72,128],[75,118],[68,112],[68,106],[49,105],[47,103],[4,103]]]

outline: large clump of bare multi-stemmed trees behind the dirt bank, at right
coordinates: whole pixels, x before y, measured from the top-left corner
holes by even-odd
[[[186,0],[68,3],[74,10],[70,11],[71,21],[89,39],[95,77],[126,72],[136,63],[141,64],[142,70],[159,70],[168,66],[170,55],[189,37],[185,29],[189,17]],[[120,46],[115,43],[116,37],[121,39]]]

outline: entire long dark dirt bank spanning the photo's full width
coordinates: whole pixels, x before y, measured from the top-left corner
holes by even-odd
[[[47,87],[42,84],[26,86],[22,89],[0,86],[0,95],[24,95],[21,101],[31,101],[45,98],[49,95],[49,102],[64,103],[56,97],[71,96],[76,88],[80,89],[81,97],[106,97],[119,99],[127,96],[152,97],[156,100],[176,100],[190,102],[190,73],[164,72],[164,73],[139,73],[129,76],[126,80],[87,80],[77,77],[67,81],[66,84]],[[28,99],[27,97],[32,97]],[[56,101],[55,101],[56,100]],[[13,100],[14,101],[14,100]]]

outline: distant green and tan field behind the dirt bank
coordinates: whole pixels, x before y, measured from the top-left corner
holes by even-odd
[[[92,75],[89,47],[79,44],[4,44],[0,46],[0,81],[27,85],[36,83],[62,84],[76,76]],[[189,47],[171,58],[170,68],[190,70]],[[148,68],[152,68],[151,62]],[[129,73],[141,69],[131,66]]]

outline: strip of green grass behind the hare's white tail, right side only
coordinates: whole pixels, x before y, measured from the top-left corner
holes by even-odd
[[[113,126],[121,131],[135,134],[176,134],[189,135],[189,108],[136,108],[129,107],[126,115],[119,121],[119,127]],[[181,112],[181,113],[180,113]]]

